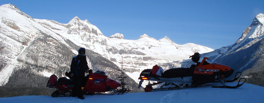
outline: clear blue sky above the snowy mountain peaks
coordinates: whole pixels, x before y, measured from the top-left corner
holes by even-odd
[[[65,24],[75,16],[87,19],[105,36],[167,36],[177,44],[213,49],[235,43],[255,16],[264,13],[264,0],[0,0],[0,5],[9,3],[36,19]]]

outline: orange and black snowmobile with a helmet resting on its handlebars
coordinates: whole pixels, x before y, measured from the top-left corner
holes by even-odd
[[[233,80],[226,80],[234,72],[229,66],[217,64],[212,62],[208,57],[204,57],[202,62],[198,62],[200,58],[199,53],[194,53],[192,61],[197,63],[192,64],[189,68],[172,68],[164,71],[161,75],[153,73],[153,69],[145,69],[141,72],[138,88],[141,88],[144,80],[158,81],[157,83],[146,85],[144,88],[145,92],[159,91],[159,90],[173,90],[173,89],[184,89],[198,87],[207,83],[218,83],[220,82],[223,86],[212,86],[212,88],[238,88],[245,83],[245,78],[240,78],[236,86],[227,86],[226,82],[236,81],[240,76],[241,72],[236,72]],[[154,66],[153,66],[154,68]],[[153,88],[153,85],[165,82],[160,88]],[[241,84],[239,84],[241,82]],[[242,83],[243,82],[243,83]],[[169,88],[163,88],[164,86],[170,85]]]

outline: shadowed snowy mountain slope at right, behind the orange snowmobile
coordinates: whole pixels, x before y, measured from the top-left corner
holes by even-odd
[[[246,28],[242,36],[234,43],[226,47],[216,49],[209,53],[201,54],[202,57],[209,57],[216,63],[230,66],[237,71],[245,71],[251,68],[255,69],[254,72],[248,74],[247,77],[251,77],[252,73],[263,72],[263,60],[264,60],[264,14],[258,14],[252,24]],[[189,67],[193,62],[186,60],[182,62],[182,67]],[[255,75],[255,74],[254,74]],[[262,76],[263,78],[263,76]],[[261,81],[261,80],[255,80]],[[262,83],[262,85],[264,85]]]

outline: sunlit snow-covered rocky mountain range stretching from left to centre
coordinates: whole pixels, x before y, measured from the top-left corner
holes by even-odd
[[[11,4],[0,6],[0,14],[0,85],[6,84],[14,71],[18,73],[28,66],[31,69],[25,73],[64,76],[79,47],[92,50],[119,67],[123,57],[126,74],[135,81],[141,70],[155,64],[164,69],[180,67],[180,63],[194,52],[213,51],[194,43],[179,45],[166,36],[160,40],[146,34],[137,40],[126,40],[119,33],[106,37],[88,20],[74,17],[62,24],[54,20],[33,19]],[[94,61],[91,57],[97,54],[89,53],[89,67],[92,67]]]

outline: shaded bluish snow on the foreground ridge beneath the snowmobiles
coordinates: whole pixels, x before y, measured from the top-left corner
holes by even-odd
[[[227,83],[235,86],[237,82]],[[203,87],[123,95],[84,95],[77,97],[18,96],[0,98],[1,103],[264,103],[264,87],[244,83],[236,89]]]

